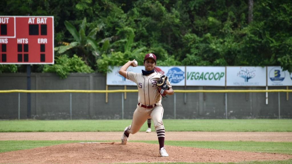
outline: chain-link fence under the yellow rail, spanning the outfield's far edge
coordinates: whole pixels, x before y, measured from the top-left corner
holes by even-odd
[[[105,93],[91,93],[94,91],[90,90],[85,93],[78,93],[78,90],[73,93],[0,91],[0,119],[131,119],[137,105],[137,93],[125,93],[127,91],[108,93],[107,100]],[[162,100],[164,118],[292,118],[292,101],[288,99],[292,90],[268,93],[268,103],[265,90],[225,93],[227,91],[175,90],[173,96]]]

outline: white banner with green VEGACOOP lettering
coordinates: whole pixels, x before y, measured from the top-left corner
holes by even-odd
[[[187,86],[225,86],[225,67],[187,67]]]

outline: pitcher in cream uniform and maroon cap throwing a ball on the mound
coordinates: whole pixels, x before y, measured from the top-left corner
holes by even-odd
[[[127,144],[129,134],[135,134],[140,130],[147,118],[151,118],[154,122],[155,131],[159,142],[159,153],[161,157],[169,156],[164,147],[165,128],[162,122],[164,109],[161,105],[161,97],[163,95],[173,95],[171,83],[166,79],[168,89],[159,92],[157,81],[162,74],[154,71],[156,66],[156,56],[153,53],[145,55],[144,62],[145,70],[142,73],[134,73],[127,71],[128,67],[137,67],[135,60],[128,61],[119,70],[119,74],[133,81],[138,87],[138,104],[133,114],[132,124],[124,129],[121,137],[122,144]]]

